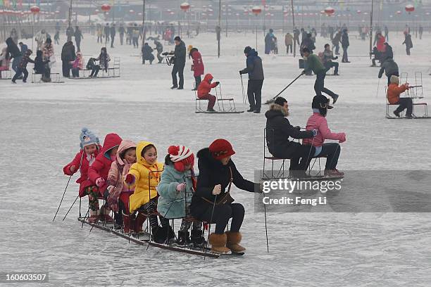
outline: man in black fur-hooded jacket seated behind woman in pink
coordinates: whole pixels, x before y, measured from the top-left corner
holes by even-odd
[[[285,98],[278,97],[271,104],[270,110],[265,113],[266,117],[266,144],[268,150],[276,158],[289,158],[290,169],[294,177],[304,177],[305,171],[313,158],[316,148],[304,146],[294,139],[308,139],[317,135],[317,130],[301,132],[300,127],[290,125],[289,104]],[[299,162],[301,158],[301,162]]]

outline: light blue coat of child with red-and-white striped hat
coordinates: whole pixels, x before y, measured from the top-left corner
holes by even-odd
[[[179,172],[173,165],[165,165],[157,186],[159,198],[157,200],[157,211],[165,218],[185,217],[185,204],[192,203],[194,193],[192,170]],[[184,191],[177,191],[177,185],[186,183]]]

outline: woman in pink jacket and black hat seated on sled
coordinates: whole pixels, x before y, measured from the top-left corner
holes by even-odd
[[[303,144],[308,144],[316,147],[314,157],[326,157],[325,176],[328,177],[342,177],[343,172],[337,170],[337,163],[341,147],[337,143],[324,144],[325,139],[335,139],[339,143],[346,141],[346,134],[344,132],[333,133],[327,127],[326,114],[327,110],[332,108],[329,106],[329,99],[325,96],[314,96],[311,107],[313,108],[313,115],[308,118],[306,129],[317,129],[318,134],[313,139],[304,139]]]

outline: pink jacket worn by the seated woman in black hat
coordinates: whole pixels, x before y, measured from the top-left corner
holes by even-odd
[[[314,139],[304,139],[302,144],[307,144],[313,146],[323,146],[325,139],[337,139],[342,140],[346,135],[342,132],[334,133],[331,132],[330,128],[327,127],[326,117],[320,115],[320,113],[313,113],[311,117],[308,117],[306,130],[311,131],[313,129],[318,130],[318,134],[314,137]]]

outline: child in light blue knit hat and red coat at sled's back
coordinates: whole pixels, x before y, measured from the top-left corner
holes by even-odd
[[[101,146],[99,144],[99,138],[89,131],[86,127],[83,127],[80,134],[80,151],[75,155],[75,158],[63,167],[63,172],[65,175],[72,176],[78,170],[81,173],[79,179],[76,183],[80,184],[79,196],[82,198],[89,195],[87,191],[88,188],[93,186],[92,181],[88,179],[88,170],[92,166],[96,156],[101,151]],[[89,196],[90,203],[92,198]],[[94,216],[97,215],[97,210],[90,211],[90,220],[94,220]]]

